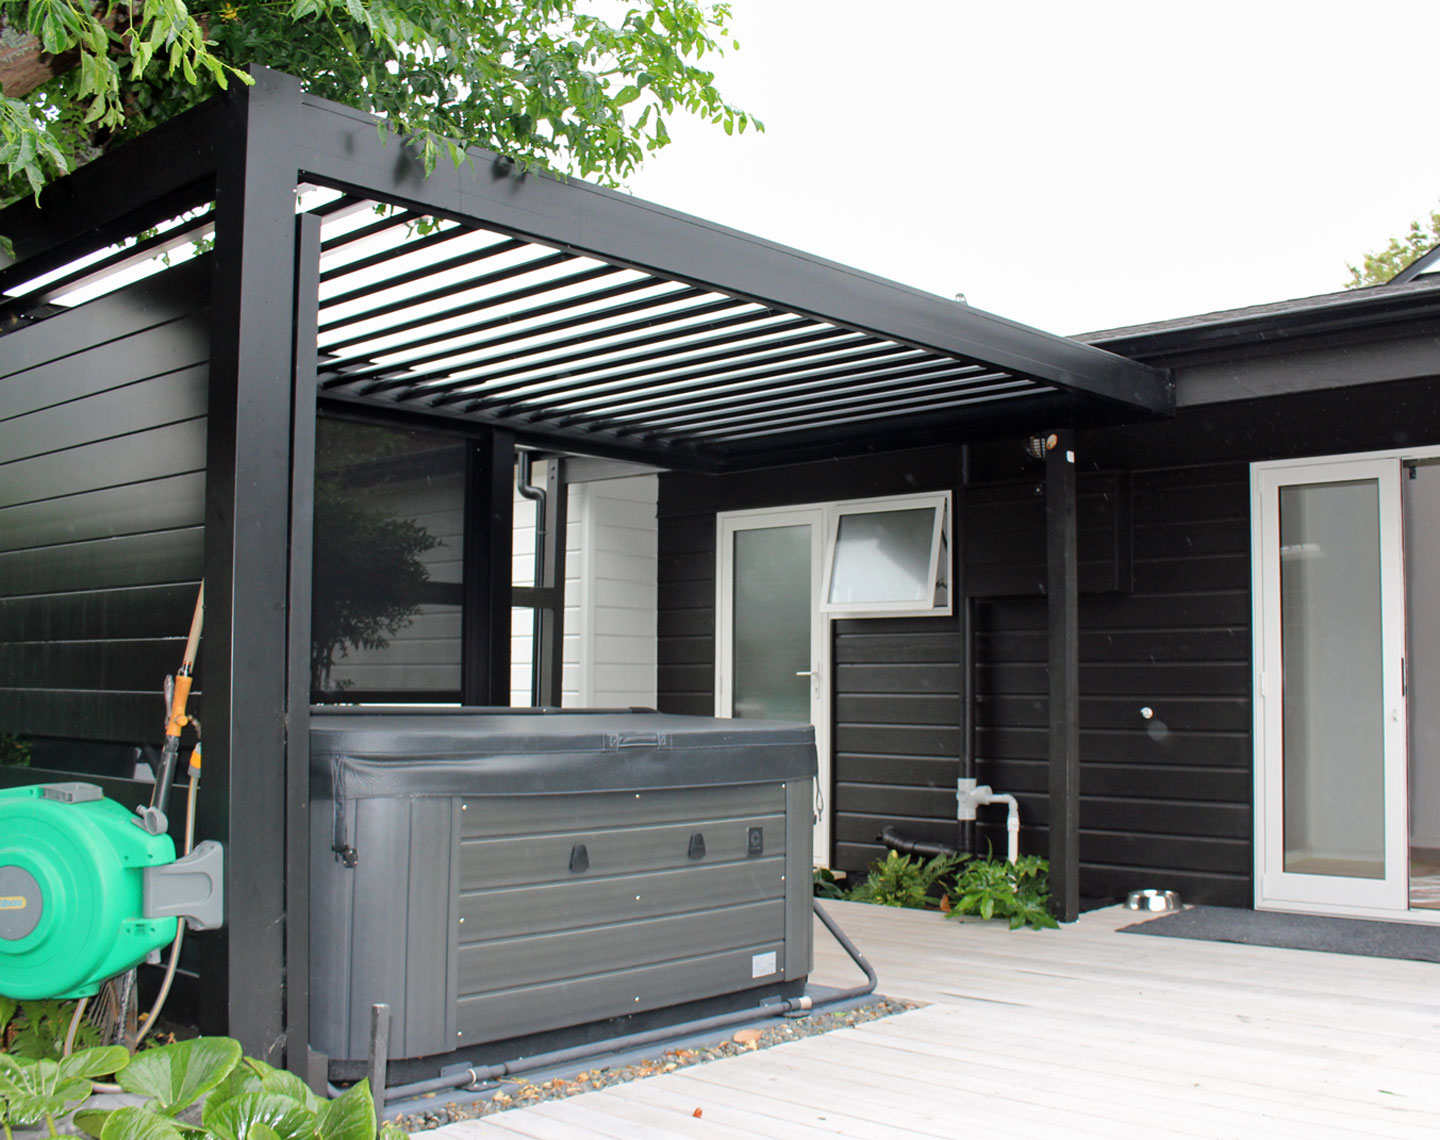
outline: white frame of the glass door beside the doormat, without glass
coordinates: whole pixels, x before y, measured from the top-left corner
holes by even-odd
[[[1401,459],[1440,455],[1440,448],[1368,452],[1253,463],[1251,599],[1254,692],[1254,905],[1410,921],[1440,921],[1436,911],[1410,910],[1408,717],[1401,689],[1405,655],[1404,522]],[[1385,828],[1382,879],[1284,871],[1284,805],[1280,662],[1280,487],[1375,479],[1380,489],[1381,701],[1384,708]]]

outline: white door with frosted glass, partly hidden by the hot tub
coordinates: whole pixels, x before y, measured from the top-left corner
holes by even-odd
[[[829,865],[829,638],[819,613],[825,512],[719,520],[716,715],[815,725],[815,862]]]

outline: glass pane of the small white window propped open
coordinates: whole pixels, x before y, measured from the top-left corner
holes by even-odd
[[[933,538],[933,507],[841,515],[829,602],[929,602],[935,596]]]

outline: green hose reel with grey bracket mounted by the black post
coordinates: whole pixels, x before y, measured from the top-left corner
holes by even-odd
[[[0,792],[0,995],[86,998],[176,937],[222,920],[222,851],[176,861],[168,835],[86,783]]]

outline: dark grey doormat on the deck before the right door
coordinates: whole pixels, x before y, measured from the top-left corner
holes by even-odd
[[[1420,923],[1320,918],[1313,914],[1277,914],[1237,907],[1191,907],[1179,914],[1120,927],[1120,933],[1440,962],[1440,926]]]

